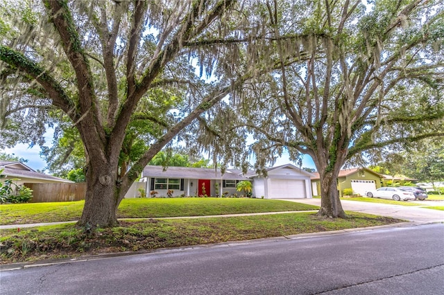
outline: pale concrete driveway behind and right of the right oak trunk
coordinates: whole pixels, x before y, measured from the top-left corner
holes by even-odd
[[[321,199],[284,199],[284,200],[321,206]],[[439,210],[420,208],[416,206],[402,206],[402,205],[348,201],[343,199],[341,199],[341,204],[345,211],[355,211],[361,213],[394,217],[401,220],[409,220],[410,222],[415,222],[418,224],[429,223],[429,222],[444,222],[444,211],[439,211]],[[427,206],[444,206],[444,202],[427,201]]]

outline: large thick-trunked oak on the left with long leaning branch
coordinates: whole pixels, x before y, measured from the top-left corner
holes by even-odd
[[[121,199],[148,161],[248,77],[244,71],[224,78],[233,46],[218,51],[223,46],[205,42],[233,38],[244,16],[233,0],[22,4],[1,7],[3,144],[25,123],[26,137],[38,140],[44,123],[67,122],[67,116],[87,159],[79,224],[114,226]],[[198,79],[196,64],[208,75],[219,66],[218,80]],[[176,114],[162,108],[171,96],[184,102]],[[153,107],[155,100],[160,107]],[[160,132],[148,132],[146,149],[123,165],[122,150],[144,136],[133,132],[144,123]]]

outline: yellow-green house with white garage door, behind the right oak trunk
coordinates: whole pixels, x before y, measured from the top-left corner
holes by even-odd
[[[319,173],[314,172],[311,178],[311,186],[314,195],[321,193],[321,181]],[[339,171],[338,191],[339,196],[343,196],[343,190],[349,188],[355,195],[366,195],[368,190],[375,190],[382,186],[383,175],[368,168],[352,168]]]

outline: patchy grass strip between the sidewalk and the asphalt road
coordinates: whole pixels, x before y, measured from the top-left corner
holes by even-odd
[[[207,199],[200,199],[200,202],[206,201]],[[395,222],[400,220],[348,212],[348,218],[335,220],[317,217],[314,213],[178,220],[148,219],[124,221],[119,227],[93,232],[78,229],[75,224],[62,224],[21,231],[2,230],[0,255],[1,263],[71,258],[98,253],[151,251],[167,247],[334,231]]]

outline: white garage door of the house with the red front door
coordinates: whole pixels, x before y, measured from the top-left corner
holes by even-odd
[[[305,181],[298,179],[270,179],[269,199],[305,198]]]

